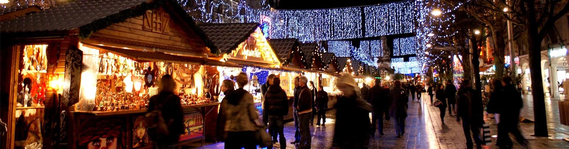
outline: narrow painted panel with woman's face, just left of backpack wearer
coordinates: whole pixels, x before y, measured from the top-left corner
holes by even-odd
[[[146,117],[135,116],[133,117],[133,148],[150,146],[146,129]]]

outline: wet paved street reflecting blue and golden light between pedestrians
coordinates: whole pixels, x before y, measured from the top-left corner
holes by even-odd
[[[423,100],[427,101],[427,95],[423,95]],[[533,120],[533,107],[531,107],[531,95],[524,95],[525,106],[521,116]],[[559,99],[546,99],[547,121],[550,135],[552,137],[531,137],[533,134],[533,123],[521,124],[522,133],[529,141],[529,148],[569,148],[569,143],[562,141],[562,138],[569,138],[569,126],[559,124]],[[462,125],[455,120],[455,114],[445,116],[445,124],[440,121],[439,109],[427,102],[409,100],[408,117],[405,123],[406,134],[402,138],[395,137],[393,120],[384,121],[385,135],[378,135],[370,141],[370,148],[465,148],[465,138]],[[490,125],[491,135],[497,135],[494,120],[485,117],[486,123]],[[311,126],[312,148],[330,148],[335,122],[335,110],[327,112],[326,126]],[[287,138],[287,148],[295,148],[288,143],[294,139],[294,122],[287,122],[284,125],[284,135]],[[515,141],[514,141],[515,142]],[[497,148],[494,146],[496,138],[492,139],[490,146],[485,148]],[[224,143],[206,144],[199,148],[223,148]],[[514,148],[521,148],[514,143]]]

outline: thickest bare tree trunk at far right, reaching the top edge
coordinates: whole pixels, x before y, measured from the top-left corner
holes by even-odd
[[[531,76],[531,94],[534,107],[534,136],[547,137],[547,120],[545,114],[545,95],[541,76],[541,41],[538,24],[535,22],[535,6],[533,1],[527,2],[527,42],[529,49],[529,65]]]

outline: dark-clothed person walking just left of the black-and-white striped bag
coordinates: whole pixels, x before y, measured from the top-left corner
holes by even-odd
[[[464,79],[460,83],[458,91],[459,99],[456,104],[456,122],[463,121],[464,137],[466,138],[467,148],[472,148],[472,137],[476,143],[476,148],[482,148],[483,143],[480,139],[479,128],[484,124],[482,97],[479,91],[472,89],[470,80]],[[472,131],[472,136],[470,135]]]

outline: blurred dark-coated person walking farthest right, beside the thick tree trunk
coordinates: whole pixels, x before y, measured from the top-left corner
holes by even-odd
[[[523,107],[521,93],[513,86],[509,76],[501,80],[494,80],[494,91],[490,94],[490,100],[486,112],[494,113],[498,118],[498,141],[496,146],[500,148],[512,148],[513,143],[508,133],[516,137],[516,141],[527,147],[527,140],[523,138],[518,128],[519,109]]]

